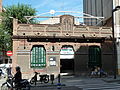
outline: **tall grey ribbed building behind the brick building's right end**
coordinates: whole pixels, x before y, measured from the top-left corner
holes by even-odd
[[[97,19],[84,19],[86,25],[104,25],[112,16],[113,0],[83,0],[83,12],[92,16],[104,17],[104,22]]]

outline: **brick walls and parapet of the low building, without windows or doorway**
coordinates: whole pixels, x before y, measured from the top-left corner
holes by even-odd
[[[74,55],[74,74],[88,75],[89,46],[101,49],[102,67],[113,73],[111,27],[88,27],[74,24],[71,15],[60,16],[59,24],[18,24],[13,23],[13,68],[19,65],[22,73],[30,78],[34,71],[52,74],[60,73],[60,49],[72,46]],[[33,45],[42,45],[46,50],[46,67],[30,67],[30,53]],[[54,51],[51,50],[54,46]],[[50,57],[56,58],[56,65],[50,66]],[[29,75],[28,75],[29,74]]]

